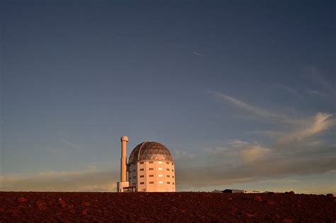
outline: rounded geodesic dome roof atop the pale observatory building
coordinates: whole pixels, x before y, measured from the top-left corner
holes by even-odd
[[[142,142],[130,153],[128,163],[142,160],[173,161],[173,157],[167,147],[159,142]]]

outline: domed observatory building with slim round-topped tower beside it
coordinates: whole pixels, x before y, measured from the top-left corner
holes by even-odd
[[[142,142],[130,153],[127,163],[127,142],[128,137],[121,137],[121,181],[117,191],[175,192],[175,164],[167,147],[159,142]]]

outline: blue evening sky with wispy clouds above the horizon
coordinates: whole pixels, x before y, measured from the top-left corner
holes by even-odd
[[[336,193],[335,1],[1,1],[0,190]]]

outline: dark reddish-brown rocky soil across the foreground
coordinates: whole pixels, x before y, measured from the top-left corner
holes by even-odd
[[[0,222],[335,222],[332,195],[0,192]]]

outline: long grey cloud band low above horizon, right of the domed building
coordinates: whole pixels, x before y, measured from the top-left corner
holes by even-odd
[[[336,169],[335,159],[335,154],[330,154],[318,157],[269,157],[258,161],[235,162],[235,164],[223,164],[215,160],[208,160],[208,165],[205,166],[182,166],[180,164],[177,165],[177,185],[180,188],[201,188],[284,176],[326,173]]]

